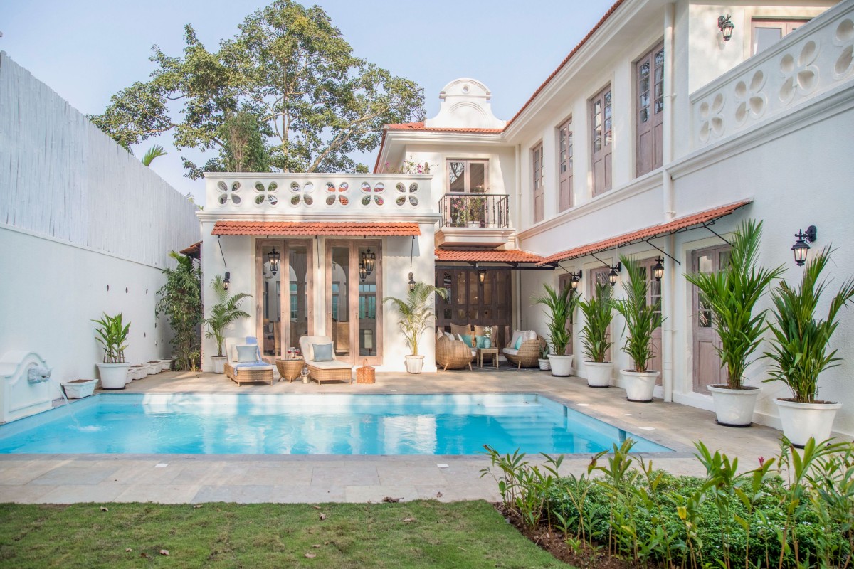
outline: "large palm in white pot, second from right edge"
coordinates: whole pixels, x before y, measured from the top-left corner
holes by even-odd
[[[757,263],[762,222],[749,219],[735,231],[725,268],[715,273],[686,275],[711,309],[711,323],[721,346],[715,346],[727,370],[726,385],[709,386],[717,422],[726,427],[749,427],[759,388],[744,385],[748,359],[762,341],[765,311],[755,311],[782,266],[765,269]]]

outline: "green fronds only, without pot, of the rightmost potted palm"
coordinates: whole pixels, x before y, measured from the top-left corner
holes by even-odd
[[[854,277],[848,279],[834,294],[828,316],[816,318],[822,293],[828,286],[822,271],[830,261],[831,250],[826,247],[804,268],[798,287],[781,282],[771,295],[774,334],[771,350],[765,352],[773,362],[771,377],[781,380],[798,403],[814,403],[818,395],[818,376],[825,369],[839,365],[836,350],[829,351],[830,338],[839,325],[837,316],[843,306],[854,299]]]

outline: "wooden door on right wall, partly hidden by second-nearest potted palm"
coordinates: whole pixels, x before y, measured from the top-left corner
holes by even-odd
[[[710,247],[691,255],[691,269],[695,273],[721,270],[729,258],[729,247]],[[693,297],[693,391],[709,393],[707,386],[727,381],[727,370],[721,367],[721,357],[716,348],[721,346],[712,328],[711,308],[705,303],[697,287],[691,285]]]

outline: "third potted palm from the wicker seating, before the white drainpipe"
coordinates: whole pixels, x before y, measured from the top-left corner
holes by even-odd
[[[652,332],[661,326],[661,299],[655,304],[646,301],[646,274],[633,259],[620,256],[620,262],[626,270],[628,278],[623,281],[626,295],[613,301],[614,308],[623,315],[627,334],[622,350],[629,354],[632,369],[623,369],[623,384],[626,387],[626,398],[629,401],[647,403],[652,401],[652,391],[655,380],[661,371],[646,369],[646,364],[652,359]]]

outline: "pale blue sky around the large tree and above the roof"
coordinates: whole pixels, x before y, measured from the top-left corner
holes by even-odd
[[[510,119],[559,62],[600,20],[613,0],[319,0],[355,55],[424,87],[427,116],[439,91],[471,77],[492,90],[492,107]],[[151,45],[180,55],[184,24],[210,50],[266,2],[224,0],[5,0],[0,3],[0,50],[26,67],[81,112],[101,113],[116,91],[145,81]],[[204,203],[204,183],[184,177],[168,136],[149,139],[169,154],[153,169],[182,194]],[[203,156],[185,154],[194,160]],[[375,153],[361,160],[372,167]]]

